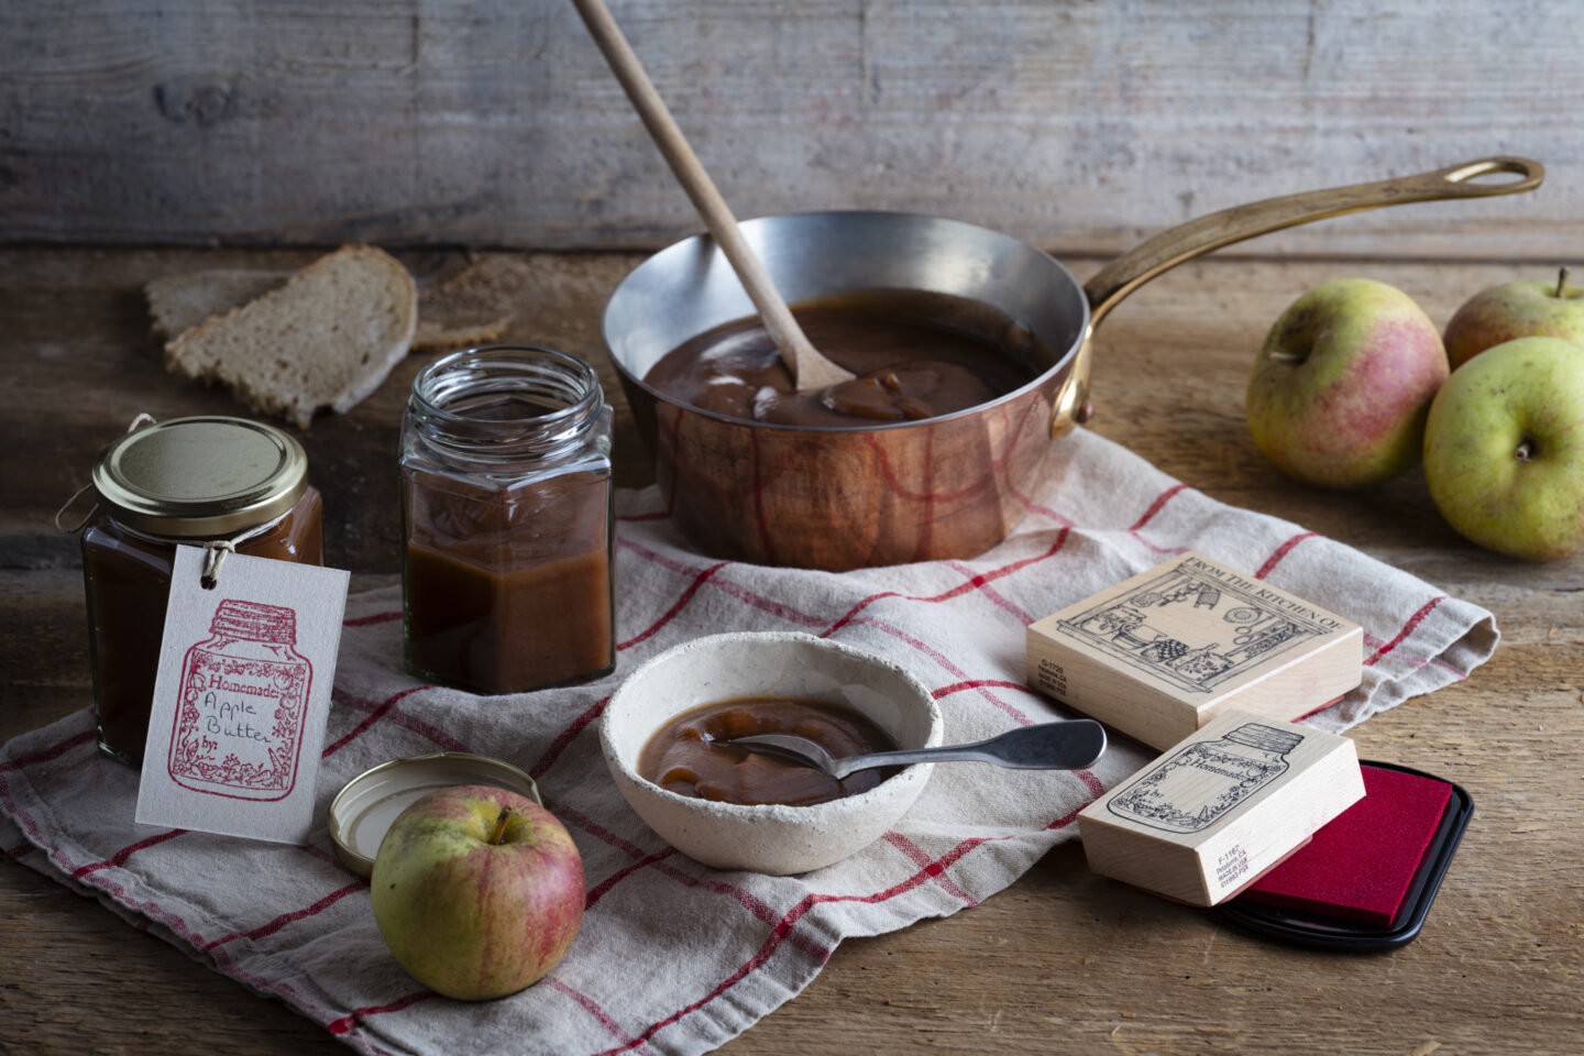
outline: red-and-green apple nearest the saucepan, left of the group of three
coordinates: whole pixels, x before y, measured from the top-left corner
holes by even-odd
[[[1315,287],[1277,318],[1248,378],[1248,431],[1286,475],[1367,488],[1419,458],[1446,380],[1435,325],[1372,279]]]

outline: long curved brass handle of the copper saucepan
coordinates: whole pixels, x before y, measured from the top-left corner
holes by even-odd
[[[1498,184],[1472,182],[1492,173],[1511,173],[1519,179]],[[1088,372],[1090,342],[1095,328],[1129,293],[1161,272],[1218,250],[1223,245],[1283,228],[1294,228],[1300,223],[1327,220],[1348,212],[1364,212],[1365,209],[1380,209],[1383,206],[1403,206],[1411,201],[1517,195],[1535,190],[1544,179],[1546,168],[1540,161],[1517,157],[1478,158],[1475,161],[1449,165],[1434,173],[1419,173],[1418,176],[1266,198],[1247,206],[1212,212],[1198,220],[1161,231],[1101,268],[1083,283],[1083,294],[1090,302],[1090,326],[1072,363],[1072,372],[1057,396],[1057,405],[1050,416],[1050,435],[1066,435],[1093,413],[1088,402]]]

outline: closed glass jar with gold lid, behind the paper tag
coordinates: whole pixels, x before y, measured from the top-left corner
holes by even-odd
[[[287,432],[242,418],[173,418],[117,439],[93,465],[82,530],[93,717],[106,755],[139,763],[176,546],[323,562],[323,502]]]

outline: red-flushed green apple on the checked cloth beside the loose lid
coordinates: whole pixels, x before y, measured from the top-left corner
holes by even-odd
[[[402,811],[374,857],[374,923],[402,967],[463,1001],[515,994],[583,923],[583,858],[550,811],[459,785]]]

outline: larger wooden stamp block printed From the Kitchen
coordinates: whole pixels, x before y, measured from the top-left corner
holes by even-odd
[[[1300,719],[1359,684],[1364,630],[1178,554],[1028,627],[1028,684],[1164,749],[1228,708]]]

